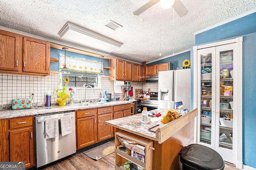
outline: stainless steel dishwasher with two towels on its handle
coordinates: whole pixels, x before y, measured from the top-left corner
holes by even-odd
[[[60,117],[71,117],[72,133],[62,136]],[[58,137],[45,139],[45,119],[58,117]],[[35,116],[36,128],[36,167],[41,167],[76,153],[75,112],[60,112]]]

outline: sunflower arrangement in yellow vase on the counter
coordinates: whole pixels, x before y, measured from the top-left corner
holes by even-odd
[[[60,84],[61,82],[62,82],[62,89],[56,90],[58,98],[61,98],[61,99],[57,99],[57,103],[60,106],[64,106],[66,104],[67,98],[70,96],[70,93],[68,90],[69,78],[65,77],[63,81],[60,79],[60,82],[58,84]]]

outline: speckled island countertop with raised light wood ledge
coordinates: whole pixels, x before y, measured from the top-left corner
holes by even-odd
[[[159,119],[162,119],[162,117],[166,115],[168,112],[167,109],[154,109],[152,111],[158,111],[161,113]],[[188,112],[187,114],[179,117],[178,119],[175,119],[165,125],[162,125],[160,128],[156,130],[156,133],[148,130],[156,125],[159,125],[159,123],[154,123],[151,121],[151,119],[155,119],[155,116],[149,116],[148,123],[142,123],[142,113],[122,117],[119,119],[105,121],[105,123],[118,129],[121,129],[123,131],[127,131],[135,135],[145,137],[147,139],[158,141],[158,143],[162,143],[166,141],[169,137],[171,137],[174,133],[179,131],[187,123],[189,123],[192,120],[194,121],[194,118],[196,116],[197,109],[194,109]]]

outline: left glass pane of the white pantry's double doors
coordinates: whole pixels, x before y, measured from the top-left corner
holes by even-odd
[[[214,148],[215,139],[215,48],[198,50],[200,75],[198,75],[198,117],[200,131],[198,141],[202,145]]]

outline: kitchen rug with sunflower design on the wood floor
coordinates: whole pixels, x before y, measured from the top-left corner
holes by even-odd
[[[92,159],[99,160],[115,151],[115,144],[112,142],[104,143],[98,147],[83,152]]]

